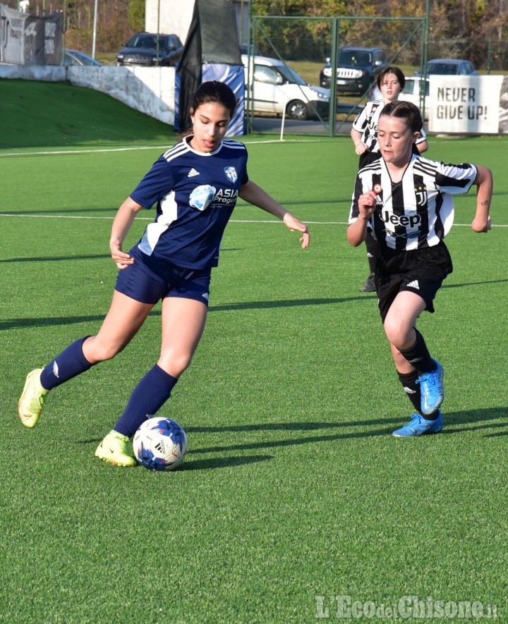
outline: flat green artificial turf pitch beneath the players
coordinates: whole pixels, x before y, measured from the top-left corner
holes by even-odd
[[[145,123],[131,134],[159,145]],[[444,430],[395,439],[411,404],[375,295],[358,292],[365,251],[346,243],[350,141],[261,138],[243,139],[250,177],[310,223],[311,246],[238,202],[205,334],[159,412],[188,434],[168,473],[94,457],[157,361],[159,306],[114,360],[50,393],[35,429],[16,415],[25,375],[99,329],[111,220],[161,149],[0,150],[1,621],[430,621],[439,601],[506,617],[507,140],[430,138],[429,157],[492,168],[494,227],[473,233],[474,194],[457,197],[454,273],[418,323],[445,369]]]

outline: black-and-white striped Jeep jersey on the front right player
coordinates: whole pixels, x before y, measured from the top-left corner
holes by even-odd
[[[413,154],[402,180],[392,183],[383,159],[358,171],[349,223],[358,219],[358,197],[379,190],[370,217],[381,245],[401,251],[433,247],[454,220],[452,195],[466,193],[476,180],[473,164],[444,164]]]

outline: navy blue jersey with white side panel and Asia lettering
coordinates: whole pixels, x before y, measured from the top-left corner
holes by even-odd
[[[190,139],[155,161],[131,199],[144,208],[157,204],[155,221],[138,244],[152,264],[207,269],[217,267],[224,228],[248,182],[247,150],[224,139],[215,152],[196,152]]]

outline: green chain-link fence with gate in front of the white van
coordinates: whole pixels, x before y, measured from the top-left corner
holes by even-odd
[[[468,59],[485,73],[508,68],[508,42],[428,40],[425,18],[255,16],[250,41],[251,132],[349,135],[387,65],[406,76],[433,58]]]

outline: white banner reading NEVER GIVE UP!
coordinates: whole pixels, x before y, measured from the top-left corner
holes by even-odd
[[[505,78],[431,75],[430,132],[496,135],[508,132]]]

